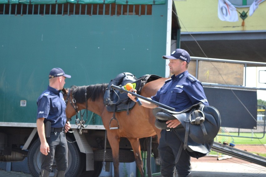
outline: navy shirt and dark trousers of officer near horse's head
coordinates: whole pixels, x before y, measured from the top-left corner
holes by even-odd
[[[64,133],[66,124],[66,103],[60,90],[48,86],[37,99],[37,119],[44,117],[44,123],[51,122],[51,134],[46,141],[50,148],[48,155],[41,154],[42,167],[52,170],[53,160],[56,160],[57,170],[67,169],[67,141]],[[56,151],[56,152],[55,152]]]

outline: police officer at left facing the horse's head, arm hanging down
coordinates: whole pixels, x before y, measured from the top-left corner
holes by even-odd
[[[61,68],[53,68],[49,73],[49,86],[37,99],[37,131],[41,141],[40,175],[47,177],[52,170],[54,159],[55,175],[64,177],[67,169],[67,142],[65,133],[71,128],[66,121],[66,103],[62,93],[65,79],[71,78]],[[49,121],[49,122],[47,122]],[[49,125],[49,123],[51,123]],[[45,134],[45,130],[49,132]]]

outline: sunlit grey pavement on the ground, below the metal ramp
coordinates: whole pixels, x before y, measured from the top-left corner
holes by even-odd
[[[214,156],[191,159],[193,177],[265,177],[265,166],[234,157],[226,160],[217,160],[217,157]],[[0,170],[0,177],[31,177],[31,175]]]

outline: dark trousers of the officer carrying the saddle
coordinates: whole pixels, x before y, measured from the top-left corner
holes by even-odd
[[[160,143],[158,146],[161,160],[162,177],[174,177],[175,168],[179,177],[185,177],[190,173],[190,156],[186,153],[182,141],[173,131],[161,131]],[[178,151],[182,148],[179,160],[176,162]]]

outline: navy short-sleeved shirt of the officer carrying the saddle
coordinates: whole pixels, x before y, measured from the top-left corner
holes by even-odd
[[[173,75],[171,79],[165,81],[151,99],[175,108],[175,111],[183,111],[199,102],[209,105],[202,84],[188,71],[177,76]]]

